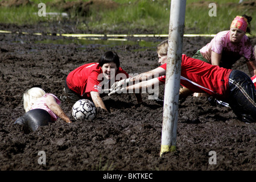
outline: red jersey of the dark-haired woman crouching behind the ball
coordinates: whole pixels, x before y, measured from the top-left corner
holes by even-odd
[[[117,72],[115,73],[115,81],[128,77],[129,75],[122,68],[119,67],[117,69]],[[90,97],[90,92],[92,91],[101,92],[103,86],[102,81],[104,81],[104,77],[102,75],[102,69],[98,63],[81,65],[67,76],[68,88],[82,96],[82,98]],[[115,81],[113,81],[113,83]],[[106,84],[104,84],[104,86],[105,85]],[[108,87],[110,87],[110,82],[108,83]]]

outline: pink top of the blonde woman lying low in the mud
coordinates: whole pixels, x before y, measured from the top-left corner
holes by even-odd
[[[53,111],[51,109],[49,109],[49,107],[46,105],[46,97],[47,96],[52,96],[56,99],[57,104],[60,105],[60,100],[53,94],[51,93],[47,93],[44,94],[42,97],[38,98],[38,100],[36,100],[36,102],[32,105],[31,110],[32,109],[43,109],[46,110],[49,115],[51,115],[51,119],[52,121],[56,121],[57,120],[57,115],[55,113],[53,113]]]

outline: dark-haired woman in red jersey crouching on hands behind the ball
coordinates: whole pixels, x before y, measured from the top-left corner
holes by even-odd
[[[106,96],[104,90],[118,80],[128,78],[129,75],[121,68],[117,53],[108,51],[101,56],[98,63],[81,65],[70,72],[65,81],[65,94],[71,104],[82,98],[92,100],[96,107],[106,109],[101,97]],[[135,94],[138,103],[141,94]]]

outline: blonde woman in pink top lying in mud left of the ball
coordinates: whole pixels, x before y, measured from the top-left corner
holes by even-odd
[[[23,105],[26,113],[16,119],[15,124],[23,125],[25,131],[36,131],[39,126],[46,126],[48,122],[54,122],[58,117],[67,123],[71,119],[60,107],[60,100],[43,89],[34,87],[23,94]]]

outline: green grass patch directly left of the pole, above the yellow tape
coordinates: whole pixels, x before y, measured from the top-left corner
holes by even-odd
[[[166,10],[164,6],[167,9],[167,5],[160,5],[154,2],[148,3],[148,1],[127,3],[126,5],[123,3],[123,6],[114,11],[93,11],[92,16],[86,21],[89,27],[97,27],[105,31],[121,30],[132,32],[137,28],[162,34],[164,33],[162,30],[168,30],[167,22],[170,16],[170,11]],[[84,26],[85,24],[81,24],[80,28]],[[154,31],[155,27],[159,27],[159,30]]]

